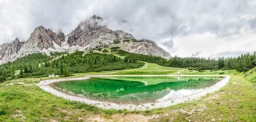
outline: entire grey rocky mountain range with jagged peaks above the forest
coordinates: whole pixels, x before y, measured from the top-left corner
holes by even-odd
[[[82,21],[69,34],[53,32],[43,26],[35,28],[25,42],[16,38],[11,44],[0,46],[0,64],[15,61],[32,53],[65,52],[74,50],[89,50],[99,47],[120,47],[131,53],[157,55],[163,58],[171,58],[164,49],[157,46],[154,41],[138,41],[131,34],[122,30],[113,31],[103,24],[103,19],[93,15]]]

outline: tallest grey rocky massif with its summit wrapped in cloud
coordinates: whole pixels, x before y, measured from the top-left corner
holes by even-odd
[[[85,49],[94,49],[106,45],[119,46],[131,53],[171,58],[171,55],[157,46],[154,41],[137,41],[131,34],[122,30],[112,31],[101,24],[102,20],[101,17],[94,15],[90,19],[79,23],[76,29],[68,34],[67,42],[70,46],[86,47]]]

